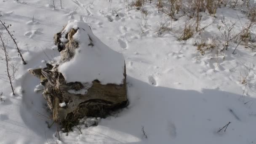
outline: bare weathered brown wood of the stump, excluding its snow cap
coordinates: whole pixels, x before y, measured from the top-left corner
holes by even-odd
[[[66,35],[65,43],[60,40],[62,32],[54,35],[54,43],[61,54],[60,64],[74,57],[75,49],[79,47],[79,43],[72,37],[76,32],[77,29],[72,28]],[[90,41],[89,45],[93,47],[91,38]],[[46,64],[45,68],[30,69],[29,73],[38,77],[40,83],[45,86],[43,97],[53,113],[53,120],[61,123],[66,131],[69,131],[79,118],[85,116],[106,117],[112,110],[126,106],[125,65],[123,84],[121,85],[102,85],[99,80],[94,80],[91,85],[81,82],[66,83],[64,76],[58,72],[58,67],[59,64]],[[69,91],[79,91],[86,87],[89,87],[87,93],[83,94]],[[59,104],[63,102],[66,106],[60,107]]]

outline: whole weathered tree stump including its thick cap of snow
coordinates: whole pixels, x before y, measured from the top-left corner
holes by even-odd
[[[53,120],[69,131],[79,118],[106,117],[127,104],[123,55],[102,43],[88,24],[69,21],[54,35],[54,43],[60,61],[29,70],[45,86]]]

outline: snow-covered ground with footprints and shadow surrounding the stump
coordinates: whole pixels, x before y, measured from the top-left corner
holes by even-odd
[[[135,7],[126,8],[126,0],[62,0],[62,9],[59,1],[55,2],[54,10],[50,0],[0,1],[0,19],[12,24],[9,29],[15,31],[13,35],[28,63],[22,65],[9,41],[10,57],[19,71],[13,81],[13,96],[5,64],[0,64],[4,100],[0,101],[0,144],[256,142],[256,52],[239,45],[232,54],[236,44],[230,44],[224,53],[207,51],[202,56],[194,46],[202,37],[221,39],[218,26],[223,16],[227,22],[236,22],[236,28],[242,27],[247,21],[243,11],[218,8],[216,18],[202,17],[202,25],[211,25],[201,35],[178,41],[186,16],[171,21],[158,13],[154,0],[144,6],[147,17]],[[27,71],[59,59],[53,35],[69,20],[87,22],[94,35],[123,54],[129,105],[101,119],[98,126],[85,128],[81,120],[68,136],[59,133],[58,140],[57,125],[47,128],[52,121],[46,101],[34,91],[40,89],[35,86],[39,80]],[[171,30],[159,32],[162,24],[168,24]],[[226,132],[218,133],[229,122]]]

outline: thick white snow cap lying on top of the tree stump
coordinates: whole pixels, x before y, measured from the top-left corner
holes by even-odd
[[[72,28],[77,29],[74,40],[79,43],[75,56],[58,68],[69,82],[91,83],[99,80],[101,84],[122,84],[124,79],[123,55],[113,51],[93,35],[88,24],[82,21],[69,21],[62,34],[62,40]],[[93,46],[90,44],[90,38]]]

